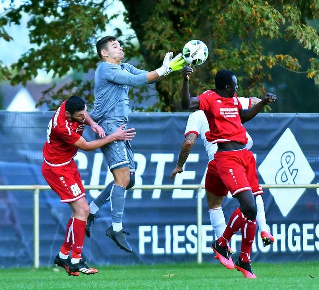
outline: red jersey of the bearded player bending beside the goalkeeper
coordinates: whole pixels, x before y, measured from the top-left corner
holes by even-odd
[[[50,166],[68,164],[77,154],[73,146],[83,134],[85,124],[69,121],[65,116],[65,102],[56,110],[49,122],[47,141],[43,147],[44,161]]]

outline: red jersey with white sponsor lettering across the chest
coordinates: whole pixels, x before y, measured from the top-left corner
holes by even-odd
[[[224,98],[213,90],[202,93],[199,109],[205,112],[209,124],[206,132],[208,142],[225,143],[237,141],[247,143],[246,129],[241,123],[239,110],[242,109],[237,96]]]

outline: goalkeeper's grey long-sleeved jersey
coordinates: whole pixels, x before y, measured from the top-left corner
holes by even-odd
[[[147,71],[131,64],[120,65],[102,62],[95,71],[93,120],[101,122],[125,122],[129,116],[129,87],[148,83]]]

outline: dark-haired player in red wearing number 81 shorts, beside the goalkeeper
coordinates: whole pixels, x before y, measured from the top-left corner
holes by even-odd
[[[87,142],[82,133],[85,125],[91,126],[100,139]],[[56,110],[49,122],[47,141],[43,148],[42,174],[50,187],[60,196],[61,202],[68,203],[72,210],[66,235],[60,253],[54,264],[63,267],[69,275],[95,274],[97,269],[89,267],[81,258],[85,226],[90,212],[85,190],[74,156],[78,149],[91,151],[116,140],[131,141],[136,134],[134,128],[123,130],[122,125],[113,134],[106,136],[86,111],[85,101],[71,96]],[[71,257],[69,254],[72,250]]]

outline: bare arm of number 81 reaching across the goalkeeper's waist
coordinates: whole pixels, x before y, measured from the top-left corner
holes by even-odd
[[[111,135],[89,142],[81,136],[81,138],[74,143],[74,146],[84,151],[92,151],[114,141],[132,141],[136,134],[136,132],[133,132],[135,128],[123,130],[124,127],[125,125],[122,125]]]

